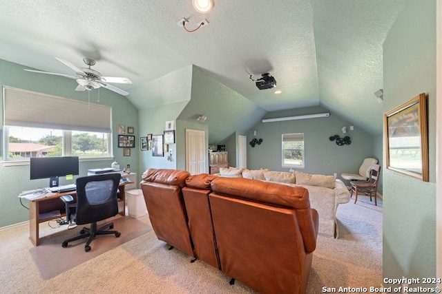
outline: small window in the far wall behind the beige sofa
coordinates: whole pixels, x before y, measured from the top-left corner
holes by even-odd
[[[304,167],[304,134],[282,134],[282,167]]]

